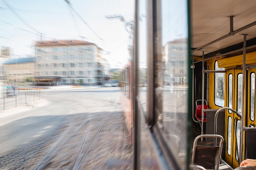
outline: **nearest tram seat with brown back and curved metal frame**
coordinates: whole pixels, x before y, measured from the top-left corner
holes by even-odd
[[[220,138],[218,146],[201,146],[197,145],[198,139],[201,137]],[[195,138],[192,150],[192,164],[199,165],[205,169],[218,170],[220,165],[220,157],[223,145],[223,137],[221,135],[199,135]]]

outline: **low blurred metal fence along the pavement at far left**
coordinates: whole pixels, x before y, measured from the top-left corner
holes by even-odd
[[[40,100],[40,89],[24,89],[16,90],[16,95],[13,92],[2,91],[0,97],[0,111],[11,107],[25,106],[30,102]]]

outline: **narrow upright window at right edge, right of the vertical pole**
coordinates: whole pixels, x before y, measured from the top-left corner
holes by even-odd
[[[250,85],[250,119],[255,119],[255,73],[251,74],[251,85]]]

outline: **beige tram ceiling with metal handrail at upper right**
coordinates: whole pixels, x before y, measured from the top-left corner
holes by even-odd
[[[205,58],[256,44],[255,0],[191,0],[192,55]],[[242,44],[242,46],[241,46]],[[217,55],[218,56],[218,55]]]

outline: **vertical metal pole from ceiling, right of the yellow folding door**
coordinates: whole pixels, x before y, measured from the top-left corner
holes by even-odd
[[[241,111],[241,121],[240,121],[240,154],[238,163],[240,164],[243,160],[243,142],[244,142],[244,118],[245,118],[245,108],[244,108],[244,100],[245,100],[245,62],[246,62],[246,34],[244,34],[244,46],[243,46],[243,83],[242,83],[242,111]]]

